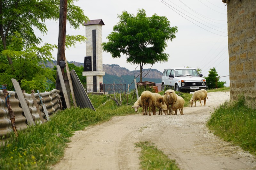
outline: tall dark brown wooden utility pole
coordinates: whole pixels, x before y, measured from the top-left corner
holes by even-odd
[[[60,65],[62,76],[64,77],[65,68],[65,41],[66,41],[66,25],[67,25],[67,0],[60,0],[60,20],[59,20],[59,38],[58,38],[58,53],[57,65]],[[60,78],[56,72],[56,89],[60,90],[60,95],[63,96]],[[64,98],[61,98],[62,106],[66,108]]]

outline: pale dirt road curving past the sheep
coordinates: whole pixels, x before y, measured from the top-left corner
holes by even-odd
[[[52,169],[140,169],[140,148],[151,141],[180,169],[256,169],[256,159],[224,142],[206,128],[214,108],[229,101],[229,92],[208,92],[206,106],[185,107],[184,115],[128,115],[76,131],[64,157]],[[203,102],[203,101],[202,101]],[[132,109],[132,108],[131,108]]]

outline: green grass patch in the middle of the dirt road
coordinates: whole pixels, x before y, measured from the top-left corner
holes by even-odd
[[[171,160],[163,151],[157,149],[153,143],[148,141],[135,143],[135,147],[140,147],[140,168],[145,170],[165,169],[179,170],[175,160]]]

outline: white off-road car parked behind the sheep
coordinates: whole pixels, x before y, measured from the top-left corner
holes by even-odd
[[[162,76],[162,90],[169,86],[175,91],[195,92],[207,89],[206,80],[202,78],[194,68],[170,68],[164,69]]]

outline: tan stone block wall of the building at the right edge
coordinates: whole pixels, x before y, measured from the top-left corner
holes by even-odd
[[[230,98],[256,108],[256,0],[228,3]]]

